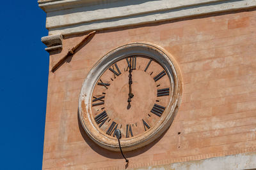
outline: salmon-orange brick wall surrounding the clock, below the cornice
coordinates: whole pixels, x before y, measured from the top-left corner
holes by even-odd
[[[113,48],[132,42],[168,50],[182,71],[182,104],[171,127],[127,152],[128,168],[207,159],[256,150],[256,11],[237,11],[99,31],[49,73],[43,169],[124,169],[120,153],[97,146],[77,118],[86,74]],[[83,34],[66,36],[51,67]],[[180,132],[180,134],[178,134]]]

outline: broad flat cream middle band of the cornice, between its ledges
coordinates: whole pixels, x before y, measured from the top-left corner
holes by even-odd
[[[46,27],[51,29],[63,25],[74,25],[83,22],[95,22],[99,20],[109,20],[114,18],[136,17],[140,15],[150,15],[152,13],[166,13],[164,11],[189,8],[200,4],[211,4],[225,0],[185,0],[174,3],[176,0],[145,1],[130,0],[118,1],[115,3],[98,4],[91,6],[79,6],[66,10],[50,11],[47,13]],[[58,20],[58,22],[55,22]]]

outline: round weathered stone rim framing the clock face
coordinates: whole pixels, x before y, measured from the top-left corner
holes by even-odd
[[[97,127],[93,125],[91,109],[93,89],[100,76],[106,69],[108,69],[108,67],[118,60],[122,60],[125,57],[132,55],[145,55],[150,57],[156,60],[164,68],[171,81],[172,96],[170,96],[170,102],[168,103],[168,106],[166,106],[159,122],[157,122],[150,131],[145,131],[143,134],[132,138],[122,138],[120,140],[122,149],[124,151],[135,150],[158,138],[168,127],[170,127],[180,105],[182,96],[182,77],[177,62],[175,62],[172,55],[164,52],[164,50],[158,46],[150,45],[148,43],[131,43],[120,46],[107,53],[95,64],[95,66],[93,66],[84,80],[79,97],[79,119],[88,136],[99,146],[108,150],[118,151],[118,141],[117,139],[109,138],[107,134],[102,134]]]

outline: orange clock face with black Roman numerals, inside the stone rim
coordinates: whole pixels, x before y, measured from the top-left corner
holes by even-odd
[[[141,55],[118,60],[104,71],[93,90],[93,123],[113,138],[116,128],[123,138],[143,134],[159,122],[170,90],[170,79],[156,60]]]

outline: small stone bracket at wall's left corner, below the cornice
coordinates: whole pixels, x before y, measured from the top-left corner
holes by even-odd
[[[51,53],[62,50],[62,39],[62,34],[57,34],[54,36],[44,36],[41,38],[41,41],[47,46],[45,50]]]

